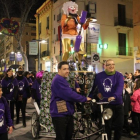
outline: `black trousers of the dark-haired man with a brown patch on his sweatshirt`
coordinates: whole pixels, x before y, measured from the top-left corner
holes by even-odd
[[[71,140],[74,131],[73,116],[52,117],[56,140]]]

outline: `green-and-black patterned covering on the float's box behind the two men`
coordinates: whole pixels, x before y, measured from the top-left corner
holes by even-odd
[[[51,99],[51,83],[52,83],[52,79],[55,77],[56,74],[57,73],[55,73],[55,72],[44,72],[43,78],[42,78],[42,83],[41,83],[41,91],[40,91],[41,103],[40,103],[39,122],[41,123],[41,125],[44,125],[47,128],[48,132],[54,132],[54,126],[53,126],[51,115],[50,115],[50,99]],[[70,75],[67,78],[67,81],[68,81],[70,87],[75,88],[75,80],[79,80],[79,85],[82,90],[85,89],[85,84],[86,84],[86,94],[83,93],[83,96],[88,96],[92,89],[92,86],[93,86],[93,80],[95,78],[95,74],[87,72],[85,75],[83,72],[81,72],[81,73],[79,73],[79,79],[75,79],[75,77],[76,77],[76,73],[70,72]],[[83,82],[83,80],[85,80],[85,82]],[[85,111],[86,111],[85,113],[91,112],[91,108],[88,108],[87,106],[84,106],[84,107],[85,107]],[[78,111],[78,109],[79,108],[76,107],[77,111]],[[81,118],[81,115],[82,115],[81,113],[79,113],[77,111],[74,113],[74,117],[76,118],[76,120]],[[76,120],[74,120],[74,130],[75,131],[77,130],[77,128],[80,125],[80,123]]]

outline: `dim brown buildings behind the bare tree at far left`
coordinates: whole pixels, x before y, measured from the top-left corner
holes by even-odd
[[[19,18],[12,18],[15,21],[18,21],[20,24]],[[29,42],[33,39],[36,39],[36,25],[35,23],[26,23],[25,28],[23,31],[22,39],[21,39],[21,45],[23,47],[24,53],[27,55],[28,61],[32,61],[29,65],[29,70],[35,70],[35,58],[32,56],[29,56]],[[18,43],[14,36],[6,36],[4,35],[3,40],[0,44],[0,60],[1,60],[1,67],[0,70],[3,71],[5,66],[8,68],[11,65],[24,65],[24,61],[10,61],[10,53],[19,52],[18,50]],[[5,65],[6,64],[6,65]]]

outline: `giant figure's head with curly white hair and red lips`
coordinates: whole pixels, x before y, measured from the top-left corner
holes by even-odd
[[[63,4],[62,10],[67,16],[69,13],[76,14],[78,11],[78,5],[75,2],[68,1]]]

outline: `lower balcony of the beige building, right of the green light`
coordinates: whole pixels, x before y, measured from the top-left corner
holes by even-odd
[[[133,56],[133,47],[118,47],[116,55]]]

